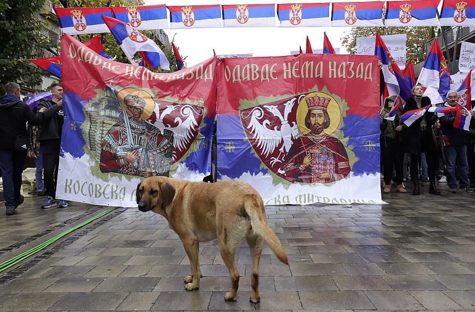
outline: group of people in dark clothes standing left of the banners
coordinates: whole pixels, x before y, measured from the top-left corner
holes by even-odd
[[[58,83],[52,84],[52,99],[41,102],[35,111],[20,100],[21,89],[17,83],[7,83],[5,92],[0,97],[0,171],[6,215],[14,214],[15,209],[23,204],[20,190],[27,154],[35,158],[38,195],[47,196],[41,208],[67,207],[65,200],[56,202],[64,122],[63,88]]]

